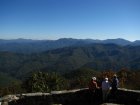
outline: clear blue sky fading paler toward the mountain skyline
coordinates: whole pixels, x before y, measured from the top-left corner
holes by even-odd
[[[0,0],[0,39],[140,40],[140,0]]]

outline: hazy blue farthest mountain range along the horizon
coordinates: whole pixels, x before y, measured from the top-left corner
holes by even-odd
[[[93,39],[72,39],[62,38],[58,40],[31,40],[31,39],[0,39],[0,51],[10,51],[15,53],[40,53],[48,50],[70,47],[83,46],[88,44],[116,44],[121,46],[139,46],[140,40],[131,42],[125,39],[107,39],[107,40],[93,40]]]

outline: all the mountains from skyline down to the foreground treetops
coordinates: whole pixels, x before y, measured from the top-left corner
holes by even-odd
[[[80,68],[96,71],[140,70],[140,41],[1,40],[0,73],[22,78],[34,71],[70,72]]]

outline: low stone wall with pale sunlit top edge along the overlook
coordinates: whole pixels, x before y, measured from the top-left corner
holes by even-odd
[[[114,103],[140,105],[140,91],[119,89]],[[101,90],[91,94],[88,89],[52,91],[51,93],[27,93],[8,95],[1,99],[2,105],[100,105]]]

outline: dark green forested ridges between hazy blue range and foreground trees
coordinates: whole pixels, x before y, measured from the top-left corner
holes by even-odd
[[[1,51],[0,72],[22,78],[33,71],[65,73],[80,68],[97,71],[117,71],[121,68],[140,70],[140,46],[97,43],[81,45],[80,41],[79,44],[33,54]]]

